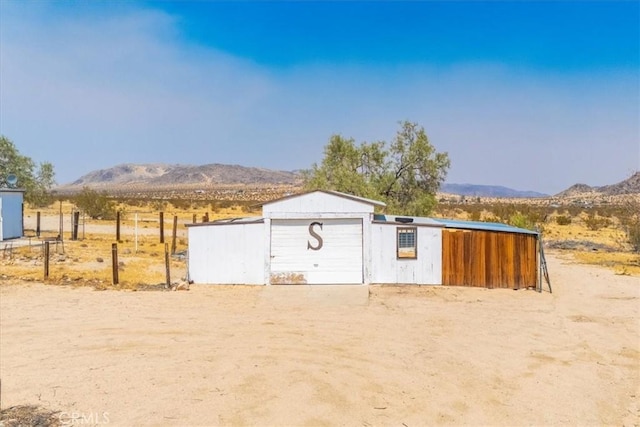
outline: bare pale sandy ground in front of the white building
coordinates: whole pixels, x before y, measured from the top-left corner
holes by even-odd
[[[0,283],[1,404],[68,425],[639,425],[640,279],[548,258],[542,294]]]

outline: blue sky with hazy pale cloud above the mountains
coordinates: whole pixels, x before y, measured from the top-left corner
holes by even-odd
[[[423,126],[448,182],[640,169],[640,2],[0,0],[0,133],[59,183],[120,163],[305,169]]]

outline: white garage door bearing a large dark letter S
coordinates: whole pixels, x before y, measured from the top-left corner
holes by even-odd
[[[362,284],[362,219],[271,221],[271,284]]]

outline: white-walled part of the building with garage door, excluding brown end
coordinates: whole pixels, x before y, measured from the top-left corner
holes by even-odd
[[[261,218],[189,224],[189,279],[210,284],[442,284],[442,227],[374,214],[384,203],[312,191]]]

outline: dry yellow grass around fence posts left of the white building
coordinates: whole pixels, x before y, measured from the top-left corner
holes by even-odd
[[[93,286],[96,289],[164,289],[166,282],[165,250],[171,251],[174,216],[178,219],[175,256],[169,256],[171,282],[186,280],[187,249],[186,223],[197,222],[208,213],[209,220],[249,216],[239,206],[207,212],[206,208],[180,211],[171,205],[164,210],[164,242],[160,243],[159,214],[150,206],[120,206],[125,215],[121,220],[118,245],[118,285],[113,285],[112,244],[116,243],[116,222],[80,220],[79,240],[70,240],[70,213],[73,205],[63,202],[41,213],[41,237],[55,237],[59,231],[59,212],[62,208],[65,225],[64,242],[50,244],[49,277],[51,284]],[[137,214],[137,239],[134,233]],[[36,211],[25,210],[25,234],[35,235]],[[42,281],[44,279],[44,251],[40,240],[33,238],[33,246],[0,247],[0,280]]]

